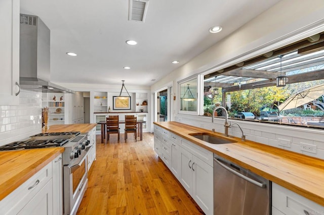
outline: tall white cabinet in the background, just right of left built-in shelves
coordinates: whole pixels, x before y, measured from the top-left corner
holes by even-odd
[[[83,92],[72,94],[72,124],[84,123],[84,98]]]

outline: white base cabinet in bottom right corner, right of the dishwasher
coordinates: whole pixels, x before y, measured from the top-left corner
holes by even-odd
[[[305,215],[323,214],[324,206],[319,205],[291,190],[272,183],[272,214]]]

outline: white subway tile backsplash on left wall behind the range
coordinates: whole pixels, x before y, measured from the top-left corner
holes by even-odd
[[[0,145],[42,132],[42,93],[21,90],[19,105],[0,105]]]

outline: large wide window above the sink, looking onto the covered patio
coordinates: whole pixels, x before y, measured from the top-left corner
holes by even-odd
[[[312,38],[318,39],[305,38],[205,74],[204,116],[220,104],[238,120],[324,129],[324,90],[290,109],[280,106],[294,94],[324,84],[324,32]],[[286,86],[276,86],[278,76],[285,77]]]

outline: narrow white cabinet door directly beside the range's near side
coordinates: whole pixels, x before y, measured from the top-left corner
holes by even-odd
[[[53,162],[53,214],[63,214],[62,154]]]

